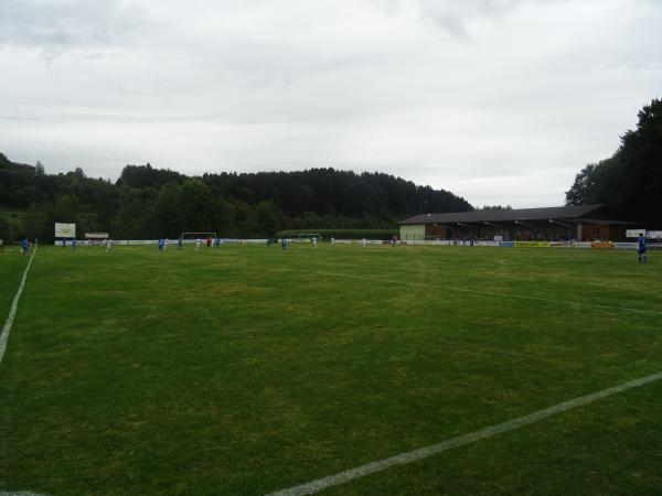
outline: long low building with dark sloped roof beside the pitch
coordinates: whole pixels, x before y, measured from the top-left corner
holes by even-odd
[[[602,204],[503,211],[421,214],[399,222],[401,239],[494,239],[624,241],[626,229],[642,227]]]

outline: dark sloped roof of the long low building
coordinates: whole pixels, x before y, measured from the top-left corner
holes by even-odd
[[[401,220],[399,224],[452,224],[483,222],[547,220],[580,218],[599,211],[605,205],[578,205],[545,208],[520,208],[511,211],[455,212],[448,214],[421,214]]]

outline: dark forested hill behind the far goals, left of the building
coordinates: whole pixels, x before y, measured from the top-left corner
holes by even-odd
[[[280,229],[393,228],[421,212],[472,209],[444,190],[383,173],[334,169],[188,176],[127,165],[113,183],[82,169],[47,174],[0,153],[0,238],[53,239],[55,222],[116,239],[182,231],[267,236]],[[19,215],[20,214],[20,215]]]

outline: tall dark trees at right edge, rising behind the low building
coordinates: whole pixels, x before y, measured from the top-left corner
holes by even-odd
[[[568,205],[605,203],[624,218],[662,227],[662,100],[638,114],[616,152],[586,165],[566,192]]]

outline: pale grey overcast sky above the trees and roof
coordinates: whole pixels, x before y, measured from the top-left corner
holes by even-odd
[[[0,0],[0,151],[560,205],[662,96],[656,0]]]

